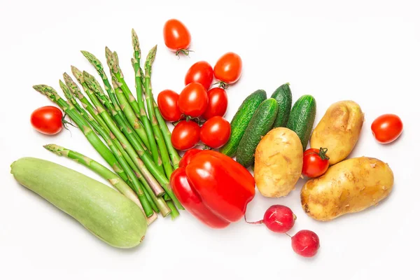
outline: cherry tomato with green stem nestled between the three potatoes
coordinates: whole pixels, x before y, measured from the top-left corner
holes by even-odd
[[[302,174],[309,178],[319,177],[324,174],[329,166],[326,148],[310,148],[303,153]]]

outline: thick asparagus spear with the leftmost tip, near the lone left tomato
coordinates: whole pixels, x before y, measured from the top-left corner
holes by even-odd
[[[120,176],[124,181],[128,181],[127,174],[121,169],[120,164],[118,163],[116,157],[109,151],[101,139],[97,137],[97,134],[94,134],[90,125],[83,119],[82,116],[74,109],[74,106],[68,104],[64,99],[59,97],[57,92],[48,85],[34,85],[34,90],[40,92],[41,94],[48,97],[52,102],[60,106],[64,113],[69,115],[69,117],[76,123],[79,129],[83,132],[87,140],[92,144],[92,146],[97,150],[97,152],[102,155],[102,158],[108,162],[108,164],[113,168],[113,170]]]

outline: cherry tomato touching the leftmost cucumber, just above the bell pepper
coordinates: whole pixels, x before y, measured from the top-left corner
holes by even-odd
[[[230,123],[219,116],[207,120],[200,132],[200,140],[210,148],[220,148],[228,142],[229,137]]]

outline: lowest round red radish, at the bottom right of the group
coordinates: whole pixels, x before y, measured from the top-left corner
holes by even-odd
[[[292,248],[297,255],[311,258],[319,248],[319,237],[311,230],[300,230],[292,237]]]

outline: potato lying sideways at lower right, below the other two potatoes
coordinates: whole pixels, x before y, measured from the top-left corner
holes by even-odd
[[[352,158],[307,181],[300,193],[304,211],[318,221],[329,221],[377,205],[391,193],[393,172],[376,158]]]

